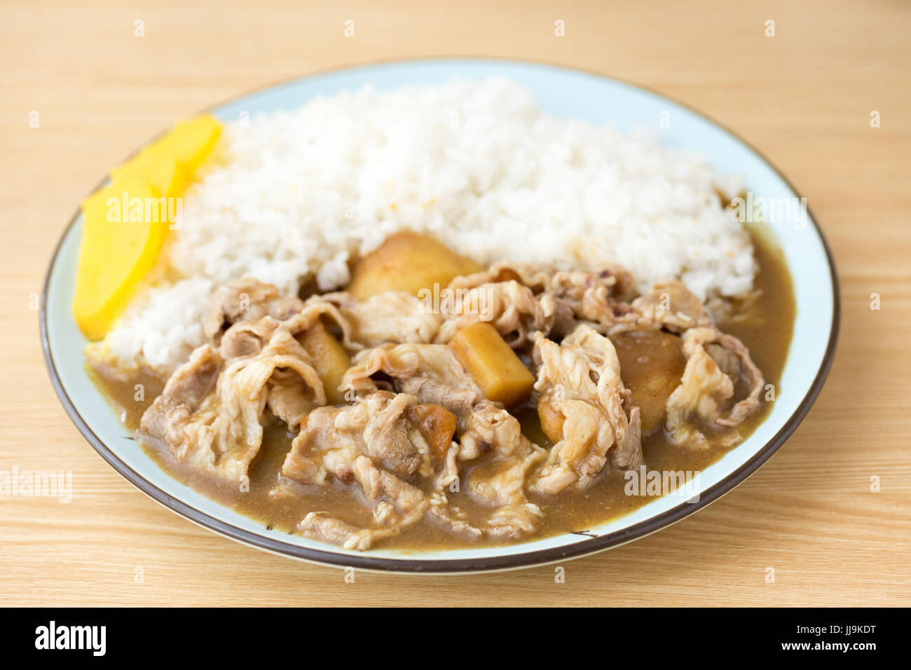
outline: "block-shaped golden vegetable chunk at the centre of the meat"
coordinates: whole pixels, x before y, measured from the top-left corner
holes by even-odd
[[[531,394],[535,376],[494,326],[484,321],[469,325],[455,334],[449,346],[489,400],[511,407]]]

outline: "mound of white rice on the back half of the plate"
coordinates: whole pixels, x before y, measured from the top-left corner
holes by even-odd
[[[713,191],[736,180],[648,133],[549,116],[506,80],[363,88],[229,123],[222,144],[230,161],[187,194],[159,263],[172,279],[102,345],[119,366],[177,366],[220,283],[342,286],[350,255],[404,228],[482,263],[614,262],[643,288],[679,277],[703,299],[752,287],[750,237]]]

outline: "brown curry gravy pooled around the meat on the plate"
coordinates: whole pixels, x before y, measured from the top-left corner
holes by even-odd
[[[754,235],[753,244],[759,264],[753,285],[759,289],[759,297],[752,304],[745,305],[736,319],[722,321],[719,326],[725,333],[739,337],[750,349],[753,361],[763,371],[766,384],[775,385],[777,393],[796,314],[791,275],[782,252],[772,243]],[[117,408],[123,423],[134,432],[142,413],[163,387],[162,381],[153,376],[138,376],[128,382],[112,382],[94,374],[92,376],[103,394]],[[138,384],[144,386],[143,401],[134,400]],[[768,412],[769,404],[766,403],[759,413],[739,427],[742,437],[748,437],[763,422]],[[514,408],[513,414],[519,418],[527,438],[538,445],[550,446],[537,422],[534,407]],[[244,516],[261,521],[266,529],[292,534],[307,512],[315,510],[325,511],[354,524],[369,524],[370,510],[364,506],[363,498],[353,485],[336,483],[333,487],[323,489],[300,487],[299,496],[279,500],[269,496],[269,491],[278,481],[281,463],[291,448],[292,438],[287,428],[278,421],[265,428],[259,456],[251,466],[249,492],[241,492],[230,484],[183,467],[171,458],[166,449],[148,445],[142,445],[142,448],[174,479]],[[721,459],[727,450],[719,446],[704,450],[674,446],[660,428],[642,438],[642,451],[648,470],[696,472]],[[470,469],[469,466],[466,472]],[[559,496],[549,499],[546,496],[530,495],[530,500],[537,502],[544,510],[544,518],[537,534],[527,540],[539,540],[563,532],[588,531],[652,500],[653,497],[648,495],[626,495],[623,472],[609,468],[605,470],[609,472],[588,490],[565,490]],[[489,513],[489,510],[474,503],[465,492],[448,493],[448,496],[453,503],[466,510],[469,519],[479,520],[483,514]],[[378,546],[397,550],[427,550],[493,544],[496,543],[466,542],[434,523],[422,520]]]

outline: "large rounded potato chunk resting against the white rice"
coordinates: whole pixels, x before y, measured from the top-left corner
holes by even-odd
[[[415,232],[397,232],[357,263],[348,292],[364,299],[386,291],[418,295],[421,289],[445,288],[460,274],[483,268],[451,251],[434,238]]]

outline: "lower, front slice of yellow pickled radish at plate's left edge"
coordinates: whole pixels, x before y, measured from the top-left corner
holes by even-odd
[[[73,315],[84,335],[100,339],[155,263],[169,224],[159,192],[144,180],[115,181],[82,209]]]

